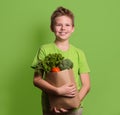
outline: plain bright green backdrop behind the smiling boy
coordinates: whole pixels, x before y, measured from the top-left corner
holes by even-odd
[[[120,115],[119,0],[0,0],[0,115],[41,115],[30,65],[39,46],[54,40],[50,16],[58,6],[73,11],[70,40],[91,68],[83,115]]]

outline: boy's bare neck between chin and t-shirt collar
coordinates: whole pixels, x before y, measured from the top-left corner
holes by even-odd
[[[66,50],[69,49],[69,41],[63,41],[63,42],[61,42],[61,41],[55,40],[55,44],[56,44],[56,46],[57,46],[59,49],[61,49],[61,50],[63,50],[63,51],[66,51]]]

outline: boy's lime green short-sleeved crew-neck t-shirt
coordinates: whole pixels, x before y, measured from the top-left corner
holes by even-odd
[[[39,48],[34,58],[34,61],[32,63],[32,67],[34,67],[37,64],[38,59],[43,60],[45,56],[47,56],[49,53],[61,53],[64,58],[68,58],[73,62],[73,71],[74,71],[75,81],[77,84],[77,89],[79,90],[81,87],[80,74],[90,72],[84,52],[74,47],[71,44],[67,51],[60,50],[55,43],[45,44]],[[45,95],[43,99],[47,100],[45,99]],[[45,103],[46,102],[44,102],[44,105]]]

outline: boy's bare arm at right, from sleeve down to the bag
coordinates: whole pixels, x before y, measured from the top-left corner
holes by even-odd
[[[79,91],[79,98],[82,101],[90,90],[90,77],[88,73],[80,75],[82,87]]]

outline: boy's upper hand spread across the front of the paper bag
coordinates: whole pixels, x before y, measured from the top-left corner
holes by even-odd
[[[57,94],[61,96],[67,97],[75,97],[76,95],[76,87],[73,83],[65,84],[61,87],[57,88]]]

